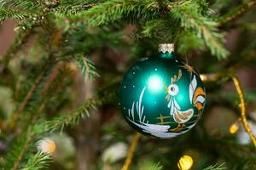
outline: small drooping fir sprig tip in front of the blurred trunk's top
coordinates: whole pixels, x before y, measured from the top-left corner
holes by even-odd
[[[84,57],[83,55],[79,55],[75,57],[75,61],[79,65],[85,81],[88,80],[88,77],[90,78],[90,81],[93,81],[95,77],[100,77],[100,75],[96,72],[94,63],[90,61],[90,59]]]

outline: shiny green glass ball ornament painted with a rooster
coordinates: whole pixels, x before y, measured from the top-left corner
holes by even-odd
[[[120,87],[119,105],[126,122],[139,133],[161,139],[188,132],[205,104],[198,72],[175,58],[173,44],[160,44],[160,54],[131,66]]]

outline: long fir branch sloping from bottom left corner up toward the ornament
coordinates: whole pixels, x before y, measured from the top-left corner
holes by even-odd
[[[26,133],[24,133],[18,142],[14,144],[12,148],[12,152],[9,153],[7,158],[8,161],[6,165],[6,169],[16,170],[20,167],[20,162],[22,161],[26,150],[32,144],[32,140],[36,136],[43,135],[44,133],[53,132],[55,130],[62,130],[66,126],[73,126],[79,122],[81,118],[85,116],[90,116],[89,110],[96,109],[96,106],[102,105],[103,103],[109,102],[109,99],[113,97],[115,93],[113,92],[105,92],[102,95],[96,95],[94,98],[86,99],[84,104],[79,106],[75,111],[71,111],[67,115],[55,117],[51,121],[42,122],[39,124],[32,124],[31,127],[28,128]],[[42,108],[38,109],[41,111]],[[35,122],[33,122],[35,123]]]

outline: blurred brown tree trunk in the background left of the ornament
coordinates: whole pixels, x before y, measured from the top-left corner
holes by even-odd
[[[80,101],[90,98],[96,87],[96,82],[84,82],[83,77],[79,77]],[[79,102],[80,103],[80,102]],[[90,111],[90,117],[79,123],[74,132],[77,147],[77,170],[89,170],[96,167],[97,152],[99,150],[101,116],[99,111]]]

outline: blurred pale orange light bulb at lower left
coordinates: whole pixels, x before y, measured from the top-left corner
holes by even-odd
[[[37,148],[46,154],[51,154],[55,151],[56,145],[51,139],[41,139],[38,141]]]

